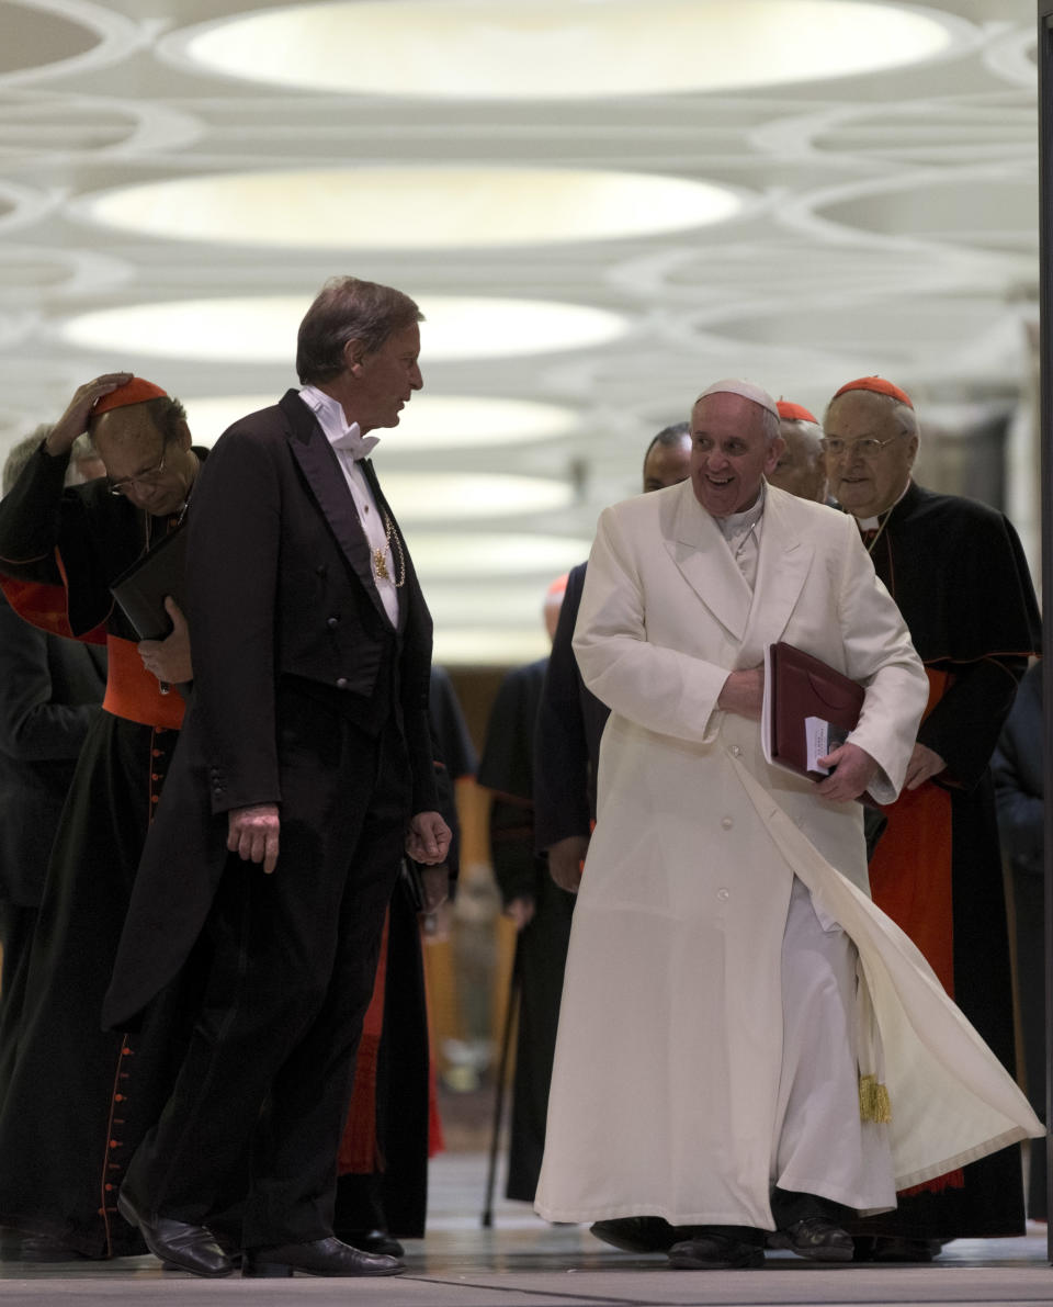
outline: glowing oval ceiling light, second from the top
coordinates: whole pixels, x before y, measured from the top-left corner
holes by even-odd
[[[477,250],[686,231],[742,208],[729,187],[651,173],[381,165],[172,178],[84,196],[71,213],[169,240]]]

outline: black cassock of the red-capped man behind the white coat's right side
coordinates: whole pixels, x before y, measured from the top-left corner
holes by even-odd
[[[930,697],[918,741],[947,763],[934,782],[913,795],[904,792],[886,809],[888,829],[870,864],[871,891],[922,951],[926,932],[932,940],[952,940],[954,999],[1015,1073],[1009,932],[989,762],[1027,657],[1039,648],[1040,620],[1027,562],[1001,512],[915,484],[890,510],[871,558],[930,680],[942,681],[942,697]],[[924,831],[916,816],[904,818],[916,800],[924,800],[921,791],[933,787],[948,796],[950,809],[942,848],[950,911],[941,919],[916,906],[899,912],[884,898],[887,886],[903,904],[909,897],[903,894],[903,877],[916,876],[921,895],[937,874],[937,860],[911,856]],[[941,1192],[901,1196],[896,1212],[860,1222],[853,1231],[943,1240],[1023,1234],[1020,1151],[1003,1149],[964,1167]]]

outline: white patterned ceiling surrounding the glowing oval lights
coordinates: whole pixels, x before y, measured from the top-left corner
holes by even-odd
[[[502,3],[477,0],[493,8],[491,27]],[[186,59],[182,29],[247,8],[0,0],[0,452],[57,416],[98,371],[132,367],[184,399],[192,416],[214,412],[195,401],[276,396],[295,383],[291,335],[287,362],[263,350],[251,362],[158,357],[137,352],[135,339],[115,353],[63,336],[68,319],[89,311],[257,295],[306,307],[327,277],[354,273],[406,290],[426,312],[457,295],[611,312],[621,335],[597,345],[434,362],[426,325],[425,395],[570,413],[529,442],[438,448],[418,430],[400,448],[396,430],[375,456],[385,477],[470,472],[570,486],[562,507],[524,514],[495,499],[493,512],[470,520],[444,524],[425,510],[421,528],[413,515],[404,523],[412,546],[421,536],[414,555],[426,579],[436,532],[478,535],[462,574],[447,554],[432,569],[440,656],[515,663],[543,647],[540,608],[553,569],[585,548],[604,503],[635,493],[648,437],[686,417],[717,376],[751,376],[820,410],[841,382],[881,372],[911,391],[922,421],[1011,401],[1028,384],[1023,324],[1037,284],[1031,0],[887,5],[958,20],[948,50],[898,71],[562,99],[312,91]],[[647,3],[640,12],[645,25]],[[400,85],[393,30],[380,78],[388,88]],[[351,73],[354,58],[349,50]],[[688,230],[430,251],[426,242],[344,246],[338,212],[325,247],[314,250],[136,235],[101,225],[85,200],[247,169],[393,165],[431,170],[422,176],[446,165],[653,174],[730,188],[743,205]],[[427,230],[427,193],[417,210]],[[210,443],[218,430],[195,434]],[[510,536],[508,548],[495,535]],[[532,566],[524,550],[541,536]]]

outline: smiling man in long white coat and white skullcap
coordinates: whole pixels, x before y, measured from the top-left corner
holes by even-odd
[[[854,800],[896,797],[928,681],[852,518],[766,484],[759,387],[711,386],[691,435],[691,478],[605,510],[589,558],[574,646],[611,716],[536,1206],[658,1225],[681,1268],[850,1260],[847,1209],[1045,1132],[869,898]],[[764,759],[775,640],[866,687],[818,784]]]

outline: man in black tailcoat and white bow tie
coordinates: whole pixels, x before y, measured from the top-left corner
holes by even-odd
[[[395,1274],[333,1236],[336,1154],[402,852],[442,863],[427,724],[431,618],[371,464],[419,389],[406,295],[331,281],[302,389],[217,442],[188,514],[195,686],[103,1018],[212,954],[189,1050],[119,1209],[195,1274],[251,1157],[243,1274]]]

